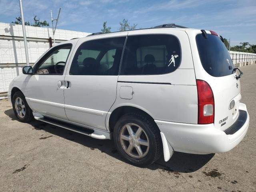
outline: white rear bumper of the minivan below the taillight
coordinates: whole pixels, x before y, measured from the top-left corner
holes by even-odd
[[[239,130],[230,135],[216,129],[214,124],[155,122],[174,151],[192,154],[222,153],[238,145],[248,130],[250,118],[246,105],[240,103],[239,110],[246,111],[247,119]]]

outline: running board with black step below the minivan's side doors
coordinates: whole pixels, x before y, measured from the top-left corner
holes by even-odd
[[[96,138],[96,139],[110,139],[110,133],[105,132],[105,131],[100,131],[100,130],[92,130],[92,129],[88,129],[88,128],[84,128],[84,127],[80,127],[80,126],[76,126],[70,123],[65,123],[65,122],[61,122],[58,120],[54,120],[51,118],[35,118],[36,120],[42,121],[42,122],[46,122],[70,131],[74,131],[86,136],[90,136],[92,138]]]

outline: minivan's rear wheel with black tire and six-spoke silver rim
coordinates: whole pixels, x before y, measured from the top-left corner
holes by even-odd
[[[118,152],[136,166],[148,166],[162,154],[160,130],[153,120],[138,113],[121,116],[114,127],[113,138]]]

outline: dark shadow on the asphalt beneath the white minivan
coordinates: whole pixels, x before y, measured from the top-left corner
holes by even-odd
[[[4,114],[9,116],[12,120],[17,120],[12,109],[6,110]],[[112,156],[113,158],[126,162],[124,158],[122,158],[120,154],[117,152],[114,146],[114,142],[112,140],[94,139],[83,134],[72,132],[70,130],[60,128],[58,126],[54,126],[36,120],[29,122],[28,124],[32,125],[35,130],[46,131],[55,136],[59,136],[72,142],[76,142],[78,144],[86,146],[91,150],[98,149],[101,152],[104,152],[109,156]],[[196,155],[174,152],[172,158],[168,162],[164,162],[164,158],[161,157],[154,164],[147,166],[146,168],[150,170],[161,169],[170,172],[190,173],[202,168],[207,162],[209,162],[213,158],[213,156],[214,154]]]

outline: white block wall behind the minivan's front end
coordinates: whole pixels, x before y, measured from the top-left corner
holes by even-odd
[[[48,39],[52,28],[26,26],[28,57],[30,64],[50,48]],[[56,29],[56,43],[72,38],[85,37],[90,33]],[[7,92],[12,79],[22,73],[26,66],[22,26],[0,22],[0,93]],[[0,96],[1,98],[1,96]]]

